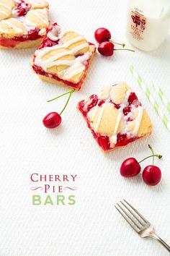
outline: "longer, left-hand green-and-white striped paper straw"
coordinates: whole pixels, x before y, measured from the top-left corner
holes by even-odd
[[[135,71],[135,68],[133,67],[133,65],[130,65],[130,72],[132,72],[133,76],[135,77],[135,79],[138,82],[138,85],[140,85],[140,88],[143,90],[143,92],[146,95],[146,98],[148,98],[148,101],[151,102],[151,105],[153,106],[153,108],[156,111],[156,114],[158,114],[158,116],[161,118],[161,121],[163,122],[164,126],[166,127],[166,129],[169,130],[170,132],[170,123],[169,123],[169,119],[167,118],[166,114],[164,114],[163,111],[161,111],[160,106],[158,105],[157,101],[155,101],[153,99],[153,96],[151,95],[150,90],[148,89],[148,87],[143,83],[142,78],[140,77],[140,75]]]

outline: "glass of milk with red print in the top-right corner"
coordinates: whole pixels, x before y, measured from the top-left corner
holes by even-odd
[[[170,0],[128,0],[127,37],[133,46],[153,51],[169,33]]]

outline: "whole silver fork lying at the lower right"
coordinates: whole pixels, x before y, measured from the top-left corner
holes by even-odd
[[[153,225],[146,220],[138,210],[130,205],[125,199],[115,205],[115,208],[120,212],[123,218],[130,224],[130,226],[141,236],[141,237],[152,237],[160,242],[169,252],[170,247],[164,242],[161,237],[157,236],[154,232]]]

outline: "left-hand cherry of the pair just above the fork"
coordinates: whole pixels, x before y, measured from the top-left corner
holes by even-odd
[[[133,177],[140,173],[141,167],[135,158],[128,158],[120,166],[120,174],[124,177]]]

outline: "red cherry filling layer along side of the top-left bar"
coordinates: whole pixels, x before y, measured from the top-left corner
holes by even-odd
[[[17,44],[26,40],[37,40],[42,38],[42,36],[39,35],[39,31],[39,28],[35,28],[34,30],[30,30],[27,35],[16,36],[14,38],[0,38],[0,46],[15,47]]]

